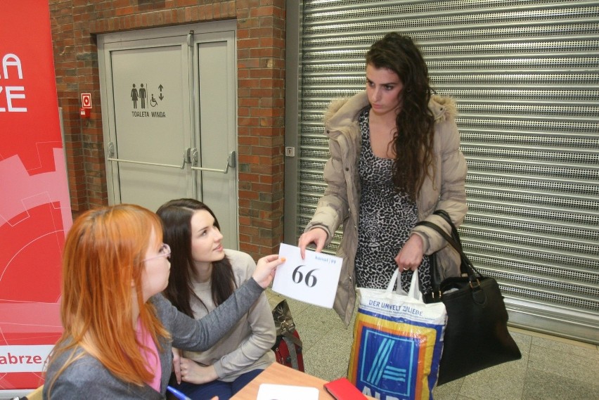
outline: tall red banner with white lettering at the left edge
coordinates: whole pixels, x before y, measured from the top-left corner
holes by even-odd
[[[11,1],[0,13],[0,390],[42,383],[71,224],[49,4]]]

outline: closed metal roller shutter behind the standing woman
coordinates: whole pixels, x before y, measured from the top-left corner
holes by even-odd
[[[299,14],[295,243],[326,186],[326,105],[363,90],[373,41],[410,34],[458,103],[472,262],[513,325],[599,343],[598,3],[312,0]]]

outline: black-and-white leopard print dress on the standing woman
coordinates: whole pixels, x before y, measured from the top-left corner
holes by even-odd
[[[418,222],[418,207],[406,193],[398,193],[392,182],[393,160],[374,155],[371,148],[368,112],[360,112],[362,148],[359,161],[361,184],[356,285],[359,288],[385,289],[397,264],[395,257]],[[401,273],[401,288],[410,288],[412,271]],[[420,290],[431,288],[428,257],[418,267]]]

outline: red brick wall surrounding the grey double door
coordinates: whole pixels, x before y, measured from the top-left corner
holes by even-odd
[[[108,204],[96,35],[237,20],[240,249],[283,240],[285,0],[49,0],[72,210]],[[91,93],[89,120],[79,116]]]

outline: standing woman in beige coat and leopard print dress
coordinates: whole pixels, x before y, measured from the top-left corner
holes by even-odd
[[[430,291],[425,255],[446,246],[428,220],[450,233],[436,209],[459,226],[467,211],[466,162],[454,118],[456,105],[433,96],[427,67],[413,41],[389,33],[366,54],[366,91],[333,101],[324,117],[330,159],[326,191],[299,238],[316,251],[343,224],[337,255],[343,257],[334,309],[349,324],[356,285],[385,288],[394,271],[408,289],[413,271]],[[445,250],[444,250],[445,251]],[[442,276],[455,276],[459,259],[447,252]]]

